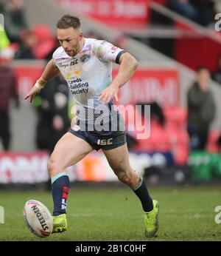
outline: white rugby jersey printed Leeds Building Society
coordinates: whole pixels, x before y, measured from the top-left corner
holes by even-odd
[[[99,122],[99,118],[104,123],[110,121],[113,99],[104,104],[98,99],[99,92],[111,84],[112,62],[119,63],[122,53],[124,50],[108,41],[94,38],[85,38],[83,49],[72,57],[66,54],[63,47],[58,47],[53,53],[55,66],[69,84],[80,121],[88,124]]]

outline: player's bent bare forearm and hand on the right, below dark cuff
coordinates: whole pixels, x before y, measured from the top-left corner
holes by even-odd
[[[138,61],[136,61],[136,58],[130,55],[130,53],[123,53],[119,58],[119,71],[116,77],[105,90],[99,93],[99,100],[108,103],[114,97],[118,101],[117,92],[119,87],[122,87],[130,80],[137,67]]]

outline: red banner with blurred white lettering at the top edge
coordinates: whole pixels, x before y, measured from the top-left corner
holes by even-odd
[[[114,26],[146,26],[149,0],[56,0],[75,12]]]

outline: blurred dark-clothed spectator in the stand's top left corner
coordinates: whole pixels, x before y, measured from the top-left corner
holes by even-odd
[[[4,4],[4,27],[11,42],[21,42],[20,33],[27,29],[24,5],[21,0],[8,0]]]

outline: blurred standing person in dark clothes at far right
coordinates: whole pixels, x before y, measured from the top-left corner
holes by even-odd
[[[197,69],[197,81],[188,92],[188,132],[192,150],[206,149],[208,130],[215,115],[214,98],[210,90],[210,72]]]

